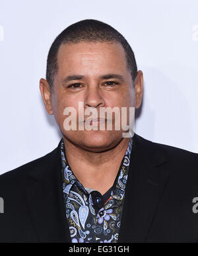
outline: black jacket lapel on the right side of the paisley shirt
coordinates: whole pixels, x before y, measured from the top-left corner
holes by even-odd
[[[133,137],[118,242],[144,242],[168,181],[166,154],[140,136]]]

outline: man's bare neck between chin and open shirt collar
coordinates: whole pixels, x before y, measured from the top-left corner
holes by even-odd
[[[117,171],[123,159],[129,138],[122,138],[116,147],[107,151],[86,151],[63,137],[65,154],[75,177],[84,187],[95,189],[104,194],[116,179]]]

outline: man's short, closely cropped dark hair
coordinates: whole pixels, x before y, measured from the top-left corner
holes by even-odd
[[[137,75],[137,64],[131,46],[127,40],[112,26],[94,19],[86,19],[71,24],[55,38],[49,49],[46,80],[50,88],[53,87],[53,77],[57,73],[57,52],[61,44],[78,42],[118,42],[125,50],[127,67],[131,71],[133,82]]]

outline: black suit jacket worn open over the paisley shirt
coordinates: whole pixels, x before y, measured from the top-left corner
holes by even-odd
[[[60,143],[0,176],[0,241],[70,242],[63,207]],[[135,134],[118,242],[198,241],[197,154]],[[198,208],[198,207],[197,207]]]

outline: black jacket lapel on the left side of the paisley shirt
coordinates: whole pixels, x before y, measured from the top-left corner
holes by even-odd
[[[28,177],[26,191],[30,218],[40,242],[69,242],[65,217],[60,144],[46,155]]]

